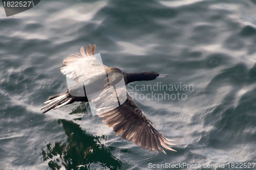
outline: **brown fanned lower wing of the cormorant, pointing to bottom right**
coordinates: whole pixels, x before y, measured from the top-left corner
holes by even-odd
[[[175,145],[176,143],[171,142],[174,140],[167,139],[153,127],[155,125],[132,100],[129,92],[127,100],[122,105],[98,115],[104,118],[103,122],[109,127],[113,127],[116,135],[122,133],[123,139],[131,140],[143,149],[154,150],[157,153],[160,150],[164,154],[166,153],[163,148],[176,151],[167,145]]]

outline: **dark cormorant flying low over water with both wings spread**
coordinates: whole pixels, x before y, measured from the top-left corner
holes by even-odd
[[[159,75],[154,71],[126,73],[117,67],[105,66],[96,61],[93,57],[95,50],[96,45],[93,45],[91,51],[90,44],[87,48],[87,53],[85,53],[84,48],[81,47],[81,54],[71,55],[63,60],[64,66],[60,68],[61,72],[67,77],[75,79],[76,83],[73,88],[65,93],[50,96],[45,102],[47,105],[41,108],[44,109],[42,113],[74,102],[93,101],[98,116],[103,117],[103,122],[106,122],[109,127],[113,127],[116,135],[122,133],[122,138],[131,140],[137,145],[141,145],[142,148],[154,150],[157,153],[159,152],[158,150],[165,153],[163,148],[175,151],[167,145],[174,145],[174,143],[171,142],[173,140],[167,139],[153,127],[154,124],[136,105],[126,89],[122,86],[120,86],[120,88],[116,86],[122,78],[126,85],[135,81],[154,80],[157,77],[166,77],[167,75]],[[87,63],[91,63],[93,69],[96,68],[96,71],[93,72],[90,69],[86,72],[89,67],[84,65]],[[82,66],[79,67],[81,69],[76,68],[78,65]],[[74,69],[76,70],[74,71]],[[102,71],[103,74],[101,74],[100,71]],[[104,75],[106,75],[106,77],[104,77]],[[106,80],[106,83],[96,83],[99,80],[103,82]],[[82,85],[81,82],[83,82]],[[86,86],[86,88],[89,87],[90,90],[88,90],[88,88],[85,90],[84,82],[87,82],[89,86]],[[109,87],[114,87],[114,90],[111,90],[112,88]],[[118,90],[122,96],[125,96],[125,98],[119,94],[117,98],[119,106],[110,107],[114,106],[112,104],[112,98],[110,97],[112,95],[110,94],[115,93]],[[99,93],[99,96],[95,96],[95,93],[97,92]],[[94,94],[93,97],[91,95],[92,93]],[[124,100],[122,101],[122,99]]]

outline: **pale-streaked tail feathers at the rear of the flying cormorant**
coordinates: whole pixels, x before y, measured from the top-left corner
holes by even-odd
[[[73,103],[73,98],[71,95],[69,95],[69,91],[65,93],[59,93],[55,95],[51,95],[47,101],[44,104],[44,107],[41,108],[41,110],[44,110],[42,113],[46,113],[51,109],[57,109],[61,106]]]

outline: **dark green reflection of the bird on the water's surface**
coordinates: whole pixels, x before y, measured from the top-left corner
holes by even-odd
[[[51,169],[120,169],[122,162],[101,143],[106,136],[93,136],[76,123],[58,119],[67,135],[67,142],[48,143],[40,154]]]

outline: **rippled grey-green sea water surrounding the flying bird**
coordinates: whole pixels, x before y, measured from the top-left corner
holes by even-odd
[[[1,6],[0,169],[232,169],[232,162],[255,162],[255,8],[253,0],[41,1],[7,18]],[[127,88],[161,133],[182,137],[178,152],[156,154],[115,136],[84,104],[74,104],[73,114],[41,114],[48,96],[67,88],[62,60],[89,43],[105,65],[170,75]],[[145,84],[168,89],[141,89]]]

